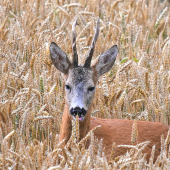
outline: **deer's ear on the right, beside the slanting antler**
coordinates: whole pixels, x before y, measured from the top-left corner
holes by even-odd
[[[108,72],[112,68],[116,60],[117,53],[117,45],[114,45],[99,57],[98,61],[92,66],[99,76]]]

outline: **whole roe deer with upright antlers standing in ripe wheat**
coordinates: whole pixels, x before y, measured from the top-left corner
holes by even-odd
[[[91,48],[83,66],[78,65],[78,54],[76,50],[76,35],[75,26],[77,20],[73,23],[73,42],[72,42],[72,62],[61,48],[54,42],[50,45],[50,55],[54,66],[64,73],[66,78],[66,102],[62,117],[62,125],[60,131],[60,142],[65,139],[65,143],[69,140],[72,132],[72,119],[79,116],[79,132],[80,140],[86,134],[96,127],[101,125],[94,135],[101,139],[103,138],[103,146],[105,147],[105,155],[109,159],[112,150],[112,144],[116,145],[131,145],[131,132],[133,120],[118,120],[118,119],[100,119],[91,117],[91,108],[93,96],[95,93],[96,83],[101,75],[108,72],[118,53],[116,45],[112,46],[104,52],[97,62],[91,66],[91,59],[94,52],[95,44],[99,35],[99,19]],[[157,122],[137,121],[138,142],[150,141],[150,144],[145,148],[147,160],[150,157],[152,146],[156,145],[155,159],[160,153],[160,139],[163,134],[166,137],[169,130],[168,125]],[[86,143],[88,147],[89,142]],[[115,157],[125,154],[127,149],[116,148]]]

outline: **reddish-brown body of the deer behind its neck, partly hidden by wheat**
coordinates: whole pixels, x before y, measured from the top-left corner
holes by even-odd
[[[101,125],[95,132],[95,136],[99,139],[103,138],[103,146],[106,148],[105,154],[109,158],[112,150],[113,142],[116,145],[132,145],[131,133],[133,120],[119,119],[99,119],[91,118],[91,128]],[[160,154],[161,135],[166,137],[169,126],[158,122],[137,121],[138,143],[150,141],[149,145],[144,149],[147,153],[147,161],[150,158],[152,146],[156,145],[154,158]],[[127,149],[116,148],[114,157],[125,154]]]

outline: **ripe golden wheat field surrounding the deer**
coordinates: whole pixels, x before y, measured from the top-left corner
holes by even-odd
[[[78,127],[65,148],[58,144],[64,107],[64,81],[50,60],[55,41],[71,57],[71,26],[76,17],[82,63],[97,16],[100,35],[94,59],[113,44],[119,55],[101,77],[93,116],[170,124],[170,9],[159,0],[1,0],[0,1],[0,169],[170,169],[169,135],[153,162],[137,144],[115,146],[107,161],[102,141],[91,131],[91,145],[77,143]],[[100,128],[100,127],[99,127]],[[86,140],[83,139],[83,140]],[[97,143],[96,143],[97,142]],[[126,155],[112,159],[115,147]]]

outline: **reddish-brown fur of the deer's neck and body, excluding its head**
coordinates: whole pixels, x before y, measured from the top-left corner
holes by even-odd
[[[105,148],[105,155],[107,159],[110,158],[110,153],[112,150],[112,144],[116,145],[132,145],[131,133],[133,120],[119,120],[119,119],[100,119],[91,117],[91,109],[89,109],[86,119],[80,122],[80,140],[86,136],[86,134],[94,127],[101,125],[94,134],[98,139],[103,138],[103,147]],[[63,139],[65,144],[69,140],[72,131],[71,115],[67,104],[65,105],[65,110],[62,118],[62,126],[60,132],[60,142]],[[147,121],[137,121],[138,129],[138,143],[150,141],[149,145],[144,149],[147,153],[147,160],[149,160],[152,146],[156,145],[154,160],[160,154],[161,147],[161,135],[164,138],[169,130],[168,125],[164,125],[158,122],[147,122]],[[114,157],[120,156],[127,152],[126,148],[116,148]]]

